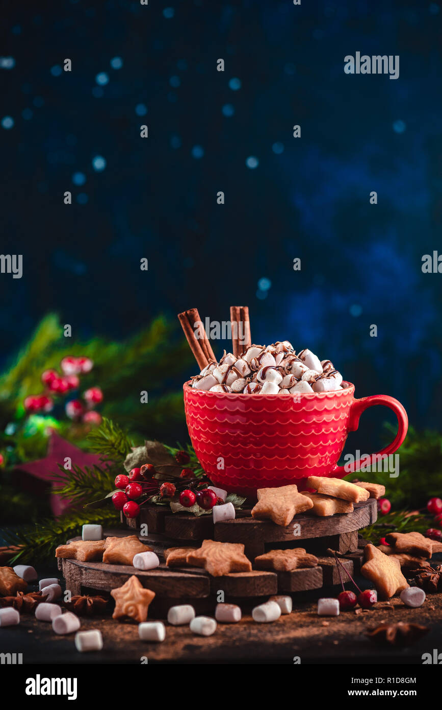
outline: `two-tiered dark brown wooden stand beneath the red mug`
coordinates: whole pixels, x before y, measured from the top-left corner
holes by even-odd
[[[170,606],[190,602],[197,613],[213,613],[217,601],[249,604],[265,601],[272,594],[295,594],[322,590],[339,584],[339,574],[334,557],[327,550],[341,555],[344,567],[350,574],[361,562],[362,550],[358,548],[358,530],[374,523],[377,505],[373,499],[355,505],[353,513],[318,518],[302,513],[296,515],[287,528],[270,521],[251,518],[249,510],[237,511],[238,517],[225,523],[213,524],[211,515],[171,513],[169,508],[150,506],[142,508],[140,518],[130,520],[130,533],[135,532],[142,542],[152,547],[160,560],[167,547],[199,547],[203,540],[242,542],[252,564],[257,555],[271,549],[305,547],[319,557],[318,567],[295,569],[293,572],[239,572],[225,577],[211,577],[205,569],[182,567],[169,569],[164,562],[157,569],[142,572],[135,567],[103,562],[78,562],[59,559],[59,569],[72,594],[110,592],[121,586],[132,574],[142,585],[157,595],[152,603],[152,615],[166,616]],[[106,535],[124,537],[123,530],[108,530]],[[75,538],[79,539],[79,538]]]

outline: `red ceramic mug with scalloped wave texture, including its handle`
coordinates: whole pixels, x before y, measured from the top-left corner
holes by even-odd
[[[378,404],[393,410],[398,430],[370,461],[393,454],[407,434],[402,404],[387,395],[355,399],[354,385],[345,384],[334,392],[242,395],[205,392],[185,383],[186,422],[205,473],[216,486],[247,496],[266,486],[297,484],[302,490],[307,476],[341,479],[348,471],[337,462],[348,432],[358,428],[365,409]]]

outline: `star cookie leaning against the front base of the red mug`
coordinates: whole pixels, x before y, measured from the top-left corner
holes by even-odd
[[[280,488],[258,488],[258,503],[251,509],[252,518],[257,520],[273,520],[276,525],[289,525],[296,513],[304,513],[313,508],[313,503],[307,496],[297,492],[297,486],[280,486]]]

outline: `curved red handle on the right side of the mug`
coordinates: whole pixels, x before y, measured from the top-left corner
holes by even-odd
[[[376,462],[376,459],[375,461],[373,461],[374,457],[385,455],[388,456],[389,454],[394,454],[395,451],[399,449],[399,446],[404,441],[404,438],[407,436],[408,430],[407,412],[405,411],[402,404],[397,401],[397,399],[395,399],[394,397],[390,397],[389,395],[372,395],[370,397],[362,397],[361,399],[353,400],[353,402],[351,403],[350,415],[348,417],[347,431],[356,432],[356,429],[359,425],[359,418],[361,417],[363,411],[365,411],[369,407],[375,407],[378,404],[382,404],[385,407],[389,407],[397,416],[397,435],[395,439],[391,442],[391,444],[388,444],[385,449],[381,449],[375,454],[370,454],[370,464]],[[370,464],[368,464],[368,461],[363,461],[364,466]],[[344,476],[348,476],[348,474],[357,471],[360,466],[361,459],[355,461],[354,464],[351,464],[351,471],[346,471],[344,466],[336,466],[334,471],[331,471],[330,476],[335,476],[338,479],[342,479],[344,478]]]

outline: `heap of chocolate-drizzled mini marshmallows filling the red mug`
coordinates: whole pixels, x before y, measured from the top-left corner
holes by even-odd
[[[305,349],[298,354],[288,340],[250,345],[239,358],[226,353],[192,378],[192,387],[209,392],[295,394],[345,388],[342,375],[329,360]]]

